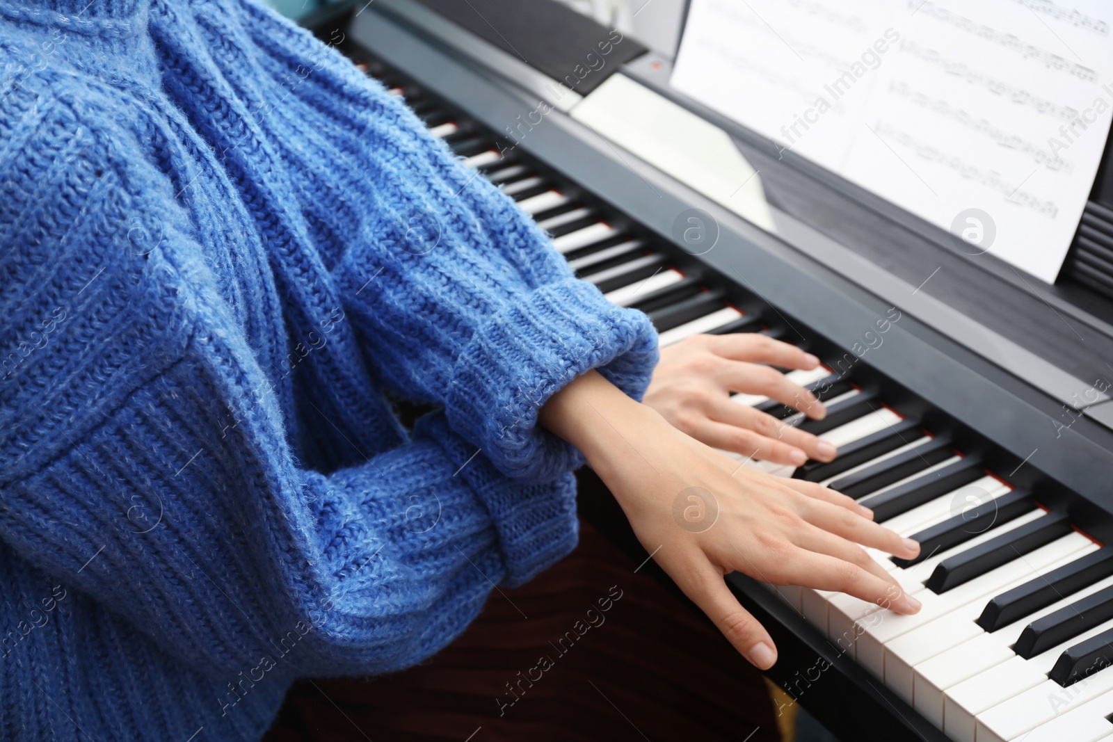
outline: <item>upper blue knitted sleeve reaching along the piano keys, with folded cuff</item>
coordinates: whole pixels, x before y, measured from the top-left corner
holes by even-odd
[[[272,140],[297,142],[283,159],[382,382],[443,404],[510,476],[579,465],[538,409],[591,368],[640,398],[657,360],[648,318],[573,278],[524,211],[335,49],[254,0],[217,4],[205,27],[238,50],[225,75],[266,101],[255,118]]]

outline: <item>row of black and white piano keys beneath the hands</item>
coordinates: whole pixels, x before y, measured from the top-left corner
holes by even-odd
[[[737,293],[676,265],[672,251],[609,216],[602,201],[516,149],[500,155],[498,138],[451,105],[377,61],[362,67],[533,216],[580,278],[614,304],[646,311],[661,346],[700,333],[787,335],[764,303],[732,300]],[[854,369],[788,376],[824,399],[823,421],[765,397],[733,400],[815,433],[839,456],[797,468],[747,465],[843,492],[918,541],[912,561],[869,551],[923,609],[897,615],[841,593],[769,588],[953,740],[1113,742],[1113,546],[989,471],[976,446],[897,412],[899,404]]]

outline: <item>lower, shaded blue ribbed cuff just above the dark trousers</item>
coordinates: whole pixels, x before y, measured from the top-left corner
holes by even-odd
[[[463,478],[486,508],[506,566],[502,584],[521,585],[575,548],[579,522],[572,474],[542,484],[508,481],[486,456],[453,432],[441,414],[417,421],[414,435],[444,448],[459,466],[453,476]]]

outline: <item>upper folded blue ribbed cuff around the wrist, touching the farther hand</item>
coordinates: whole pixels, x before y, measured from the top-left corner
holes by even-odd
[[[644,314],[614,306],[585,281],[549,284],[480,326],[456,358],[445,412],[508,476],[553,478],[583,457],[538,427],[541,406],[592,368],[640,400],[657,358]]]

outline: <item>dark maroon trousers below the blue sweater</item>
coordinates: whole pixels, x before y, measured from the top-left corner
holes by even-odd
[[[493,592],[449,647],[388,676],[301,681],[264,740],[778,741],[760,674],[636,567],[581,521],[570,556]]]

